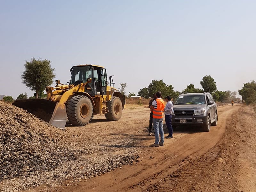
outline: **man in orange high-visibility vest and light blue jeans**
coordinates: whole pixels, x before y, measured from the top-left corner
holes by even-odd
[[[162,93],[156,92],[156,100],[152,102],[150,111],[153,112],[153,126],[155,131],[155,143],[151,144],[151,147],[164,146],[164,130],[163,130],[163,113],[164,113],[164,101],[162,100]],[[159,132],[161,141],[159,143]]]

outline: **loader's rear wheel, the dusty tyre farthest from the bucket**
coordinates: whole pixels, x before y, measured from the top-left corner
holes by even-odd
[[[123,112],[123,104],[119,97],[112,97],[108,102],[108,113],[105,113],[105,117],[109,121],[118,121]]]

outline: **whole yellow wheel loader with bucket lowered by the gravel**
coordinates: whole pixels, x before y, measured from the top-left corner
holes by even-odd
[[[113,76],[108,82],[104,67],[78,65],[70,72],[70,83],[56,80],[55,87],[46,87],[46,99],[16,100],[13,105],[59,128],[65,127],[67,119],[74,126],[84,126],[97,114],[105,114],[110,121],[121,118],[125,96],[114,88]]]

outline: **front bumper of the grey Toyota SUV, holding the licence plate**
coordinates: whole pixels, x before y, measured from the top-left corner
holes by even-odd
[[[181,119],[186,119],[186,123],[180,123]],[[181,117],[181,116],[172,116],[172,124],[173,125],[194,125],[201,126],[205,122],[207,122],[207,116],[198,115],[193,117]]]

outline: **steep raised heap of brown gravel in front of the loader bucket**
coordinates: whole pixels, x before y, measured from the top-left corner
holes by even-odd
[[[0,111],[0,181],[36,175],[76,158],[59,143],[65,131],[2,101]]]

